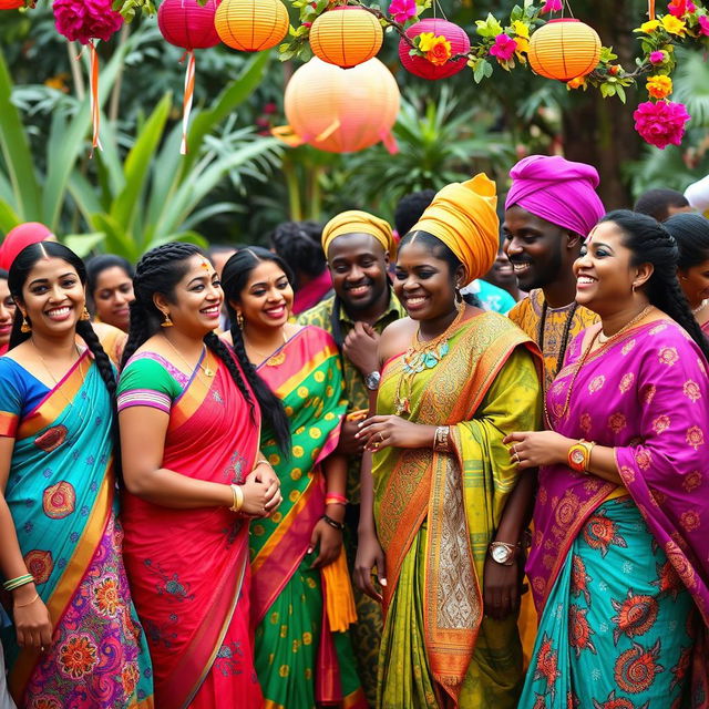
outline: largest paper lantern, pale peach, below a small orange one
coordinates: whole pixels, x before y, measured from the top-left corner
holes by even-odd
[[[343,70],[314,56],[286,86],[286,117],[297,138],[290,143],[354,153],[382,141],[395,152],[399,103],[397,81],[378,59]]]

